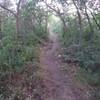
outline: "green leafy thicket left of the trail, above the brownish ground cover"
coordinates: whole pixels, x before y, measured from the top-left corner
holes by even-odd
[[[36,49],[43,42],[42,40],[46,39],[46,22],[42,9],[32,11],[33,8],[29,3],[22,9],[20,33],[16,34],[15,18],[12,15],[3,19],[4,23],[0,32],[1,72],[20,68],[30,61],[35,62]],[[31,22],[32,15],[34,23]],[[39,16],[41,19],[38,18]]]

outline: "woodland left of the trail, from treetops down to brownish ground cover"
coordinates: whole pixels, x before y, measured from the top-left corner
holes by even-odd
[[[23,88],[27,89],[27,82],[29,86],[36,84],[39,47],[47,40],[47,13],[36,6],[36,1],[30,1],[20,3],[19,14],[17,11],[14,16],[15,12],[8,10],[10,1],[3,2],[0,4],[0,100],[15,100],[19,95],[26,96]]]

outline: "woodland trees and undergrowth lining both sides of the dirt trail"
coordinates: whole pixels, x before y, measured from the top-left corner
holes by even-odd
[[[78,64],[79,79],[93,87],[100,100],[99,0],[17,1],[0,0],[0,99],[16,100],[27,83],[40,82],[38,50],[48,40],[49,22],[59,34],[62,61]]]

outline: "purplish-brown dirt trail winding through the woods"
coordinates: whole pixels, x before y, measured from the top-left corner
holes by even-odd
[[[64,77],[57,57],[59,48],[57,38],[41,48],[40,65],[44,70],[44,84],[48,88],[44,100],[90,100],[87,93],[73,86],[68,75]]]

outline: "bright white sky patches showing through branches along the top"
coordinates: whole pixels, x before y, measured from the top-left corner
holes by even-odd
[[[16,3],[18,2],[18,0],[10,0],[10,1],[12,3],[11,9],[16,10]],[[29,0],[26,0],[26,1],[29,1]],[[61,4],[57,3],[56,0],[54,0],[54,1],[45,0],[45,1],[47,2],[47,4],[51,4],[52,3],[55,6],[55,8],[59,8],[60,11],[63,13],[63,7],[61,6]],[[89,1],[91,1],[91,0],[89,0]],[[86,4],[87,7],[88,7],[88,9],[90,9],[90,7],[88,6],[89,1]],[[67,13],[69,13],[69,14],[76,13],[76,9],[75,9],[75,6],[72,3],[72,0],[68,0],[67,2],[70,5],[67,6],[67,8],[65,8],[65,11],[67,11]],[[93,0],[93,2],[94,2],[94,6],[92,8],[94,8],[94,9],[95,8],[100,9],[100,1],[99,0]],[[44,4],[44,2],[40,2],[39,5],[42,6],[44,9],[46,8],[46,5]],[[93,12],[93,9],[90,9],[90,10]]]

